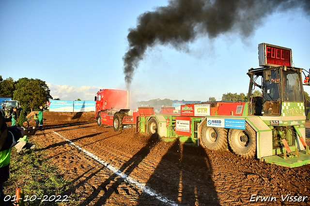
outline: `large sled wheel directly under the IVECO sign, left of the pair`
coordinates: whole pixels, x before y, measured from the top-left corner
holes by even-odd
[[[219,127],[208,127],[205,122],[201,131],[201,143],[203,147],[212,150],[225,150],[227,144],[227,129]]]

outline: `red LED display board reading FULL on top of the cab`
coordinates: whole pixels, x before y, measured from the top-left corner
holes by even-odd
[[[260,66],[292,66],[292,50],[271,44],[258,45]]]

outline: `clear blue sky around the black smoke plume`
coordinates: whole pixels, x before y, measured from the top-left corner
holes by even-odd
[[[53,98],[93,100],[101,88],[126,89],[123,56],[137,17],[167,0],[1,0],[0,75],[38,78]],[[291,48],[295,67],[310,68],[310,18],[300,9],[262,19],[252,35],[199,36],[186,51],[146,50],[130,86],[132,101],[207,101],[247,93],[258,44]],[[304,87],[310,94],[310,87]]]

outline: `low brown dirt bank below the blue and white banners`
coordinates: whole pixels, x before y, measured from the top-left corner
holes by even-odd
[[[31,112],[27,118],[33,118],[37,111]],[[94,121],[95,112],[43,112],[43,118],[46,121],[59,121],[59,120],[80,120],[80,121]]]

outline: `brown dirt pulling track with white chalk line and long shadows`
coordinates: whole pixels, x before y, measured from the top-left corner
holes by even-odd
[[[81,206],[310,205],[310,165],[286,168],[230,151],[158,141],[133,129],[114,132],[98,127],[93,117],[45,112],[44,130],[31,137],[73,179],[65,192],[76,194]]]

